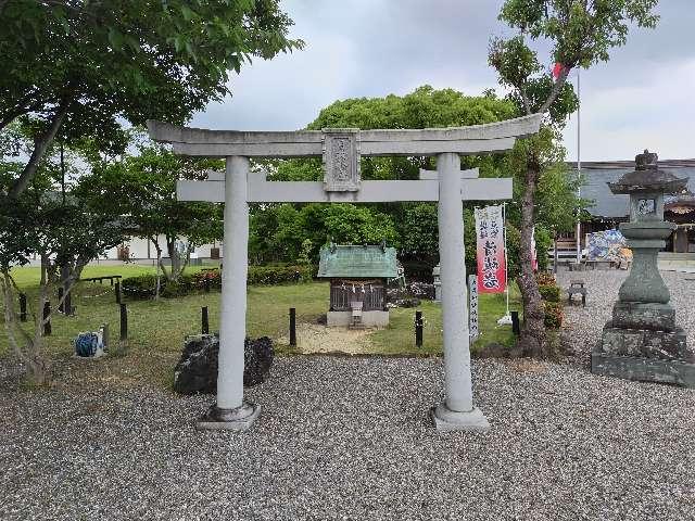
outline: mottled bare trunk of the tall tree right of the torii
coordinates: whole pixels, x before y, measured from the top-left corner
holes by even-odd
[[[519,346],[526,356],[540,358],[546,355],[545,325],[543,323],[545,314],[539,284],[533,272],[531,234],[533,232],[535,189],[541,165],[532,147],[528,154],[525,175],[526,186],[521,198],[521,244],[519,245],[521,274],[517,279],[523,301],[523,323]]]

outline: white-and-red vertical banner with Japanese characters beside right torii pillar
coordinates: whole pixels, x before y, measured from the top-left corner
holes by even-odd
[[[476,208],[478,292],[503,293],[507,284],[502,205]]]

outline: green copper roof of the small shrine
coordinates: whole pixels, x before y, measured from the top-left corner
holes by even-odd
[[[395,249],[382,246],[332,245],[321,247],[319,278],[395,279]]]

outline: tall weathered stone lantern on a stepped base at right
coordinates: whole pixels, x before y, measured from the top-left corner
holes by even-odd
[[[630,195],[630,223],[622,223],[620,231],[633,262],[591,368],[596,374],[695,386],[695,352],[675,326],[671,295],[657,267],[659,250],[677,228],[664,220],[664,195],[680,193],[687,179],[659,170],[657,160],[645,150],[635,157],[635,171],[608,183],[612,193]]]

